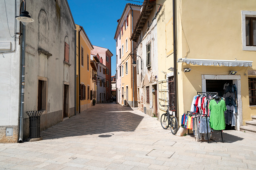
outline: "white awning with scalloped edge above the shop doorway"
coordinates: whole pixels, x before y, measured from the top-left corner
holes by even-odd
[[[180,58],[178,62],[185,62],[187,64],[199,66],[226,66],[226,67],[252,67],[252,61],[239,60],[207,60],[207,59],[183,59]]]

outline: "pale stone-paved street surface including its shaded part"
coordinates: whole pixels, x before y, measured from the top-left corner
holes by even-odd
[[[0,143],[0,169],[256,169],[256,135],[232,130],[224,143],[196,141],[114,103],[97,104],[42,137]]]

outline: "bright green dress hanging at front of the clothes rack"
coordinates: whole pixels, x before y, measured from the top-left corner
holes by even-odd
[[[210,127],[214,130],[223,130],[226,128],[224,112],[227,110],[226,102],[220,100],[217,104],[215,100],[211,100],[209,103],[210,115]]]

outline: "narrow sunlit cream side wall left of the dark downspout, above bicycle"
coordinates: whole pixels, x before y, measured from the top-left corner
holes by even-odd
[[[163,4],[161,11],[157,16],[157,56],[158,56],[158,90],[167,89],[166,82],[161,86],[160,81],[168,79],[166,74],[170,74],[168,70],[174,67],[173,59],[173,2],[167,0],[158,0],[156,4]],[[163,73],[164,72],[164,73]],[[158,92],[159,98],[168,99],[168,92]],[[159,99],[161,105],[167,105],[167,102]],[[162,108],[162,109],[161,109]],[[165,112],[164,108],[158,107],[158,119]]]

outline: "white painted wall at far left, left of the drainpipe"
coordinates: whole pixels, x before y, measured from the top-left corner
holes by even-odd
[[[18,23],[17,30],[19,32],[19,22],[15,20],[14,0],[0,1],[0,7],[2,21],[0,23],[0,126],[17,126],[20,94],[20,46],[19,41],[15,42],[14,35],[15,23]],[[18,3],[16,7],[19,9],[20,4]],[[18,37],[19,35],[17,35]]]

